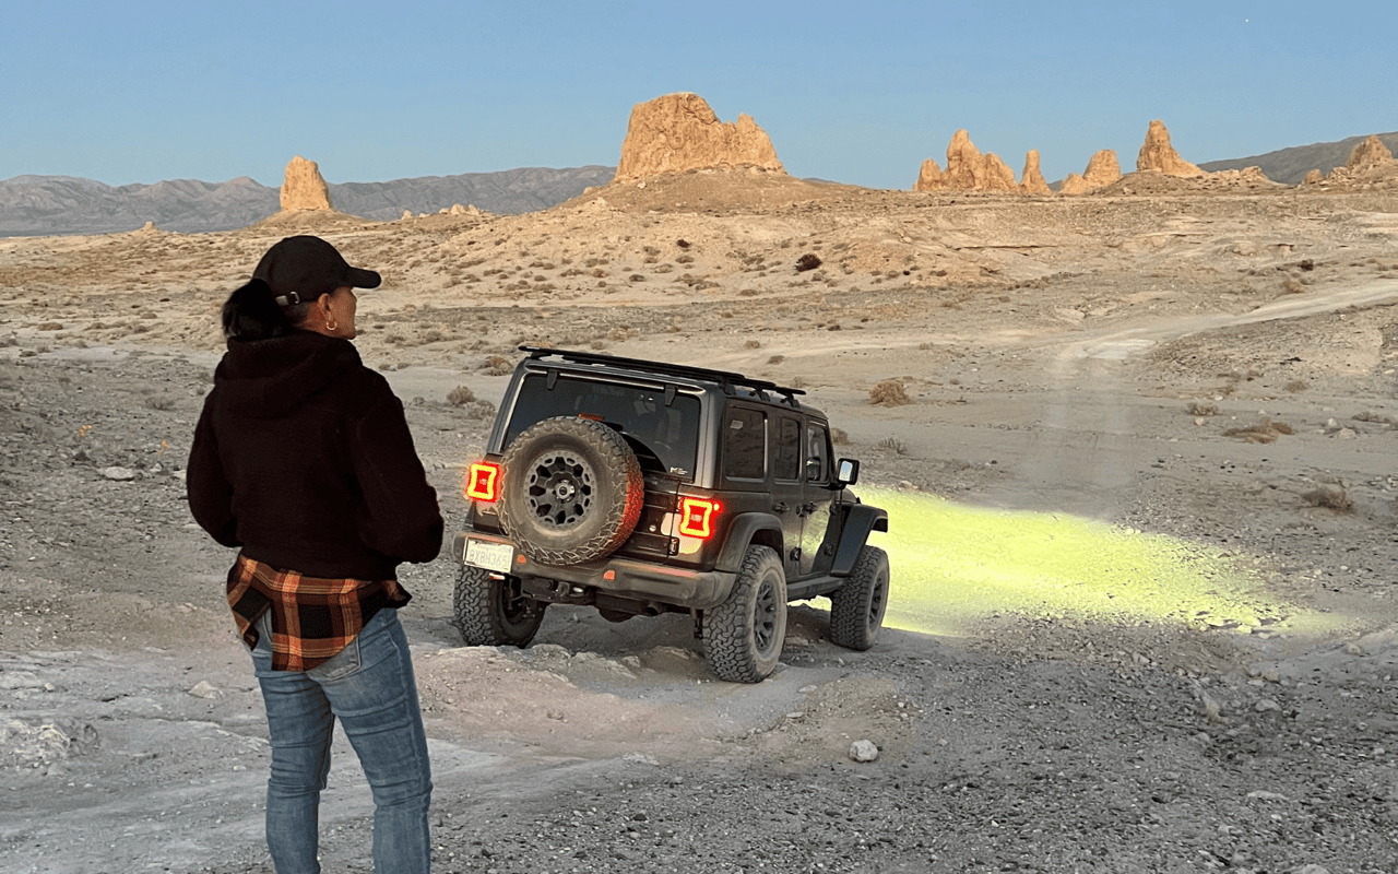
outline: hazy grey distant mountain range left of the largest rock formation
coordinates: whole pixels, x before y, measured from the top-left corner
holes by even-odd
[[[377,220],[398,218],[404,210],[436,213],[453,204],[516,214],[548,208],[589,186],[607,185],[615,175],[615,166],[601,165],[526,166],[495,173],[347,182],[330,186],[330,203],[351,215]],[[0,236],[112,234],[136,231],[148,221],[162,231],[231,231],[280,208],[278,189],[247,176],[120,186],[75,176],[15,176],[0,182]]]

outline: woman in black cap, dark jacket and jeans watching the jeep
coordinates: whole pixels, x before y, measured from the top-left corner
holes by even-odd
[[[432,779],[400,562],[442,515],[387,380],[359,359],[355,288],[377,273],[316,236],[274,245],[224,303],[228,352],[190,450],[194,519],[238,547],[228,603],[267,705],[267,846],[320,870],[316,824],[338,717],[373,790],[375,871],[428,871]]]

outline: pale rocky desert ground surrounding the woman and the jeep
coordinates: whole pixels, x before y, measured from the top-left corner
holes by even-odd
[[[555,607],[528,649],[463,647],[452,558],[404,566],[436,870],[1398,871],[1398,196],[1166,182],[693,172],[516,217],[0,239],[0,870],[271,870],[232,555],[182,468],[218,308],[315,232],[384,275],[356,345],[449,530],[520,344],[802,387],[895,502],[892,626],[854,653],[795,604],[758,685],[679,617]],[[931,502],[1172,538],[1239,569],[1236,610],[1118,608],[1071,569],[928,597]],[[368,871],[336,755],[324,866]]]

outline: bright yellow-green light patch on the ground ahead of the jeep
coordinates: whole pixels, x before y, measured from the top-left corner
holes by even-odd
[[[1062,513],[994,510],[863,487],[888,510],[885,624],[963,633],[995,614],[1243,628],[1296,617],[1269,596],[1253,559]],[[1310,631],[1339,624],[1309,617]],[[1318,622],[1318,624],[1317,624]]]

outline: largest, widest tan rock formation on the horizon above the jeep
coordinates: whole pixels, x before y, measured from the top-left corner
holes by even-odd
[[[720,122],[698,94],[667,94],[632,108],[612,182],[734,166],[786,173],[772,140],[752,116]]]

